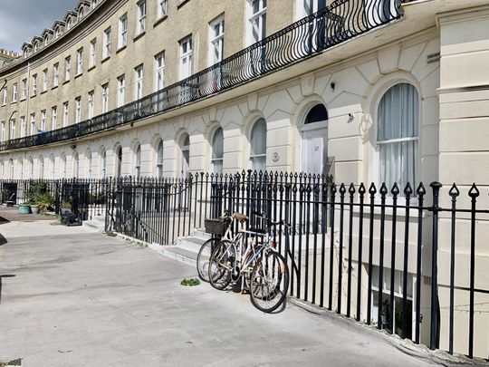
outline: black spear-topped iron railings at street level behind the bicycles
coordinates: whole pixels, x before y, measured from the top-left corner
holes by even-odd
[[[17,184],[17,202],[37,181]],[[489,203],[484,187],[336,185],[284,172],[188,179],[44,181],[56,202],[78,200],[107,231],[173,245],[225,209],[292,226],[273,228],[292,269],[292,296],[449,353],[489,353]],[[11,190],[12,187],[9,188]],[[73,195],[74,194],[74,195]],[[71,198],[72,197],[72,198]],[[21,199],[22,200],[22,199]]]

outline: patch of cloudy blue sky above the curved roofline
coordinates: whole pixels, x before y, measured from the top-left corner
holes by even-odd
[[[0,48],[21,52],[24,42],[51,28],[78,0],[0,0]]]

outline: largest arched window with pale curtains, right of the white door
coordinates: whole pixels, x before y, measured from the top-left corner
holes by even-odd
[[[407,82],[398,83],[384,93],[377,115],[379,179],[392,188],[394,182],[402,192],[409,182],[417,182],[417,139],[419,97]]]

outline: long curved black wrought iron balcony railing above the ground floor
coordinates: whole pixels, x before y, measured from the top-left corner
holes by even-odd
[[[73,140],[205,99],[311,58],[403,15],[406,0],[336,0],[321,11],[254,43],[220,63],[161,91],[90,120],[24,138],[0,142],[15,150]]]

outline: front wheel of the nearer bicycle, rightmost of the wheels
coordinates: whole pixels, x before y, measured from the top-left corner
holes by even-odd
[[[289,289],[289,267],[282,255],[267,251],[254,265],[251,275],[250,298],[258,310],[271,313],[287,296]]]

